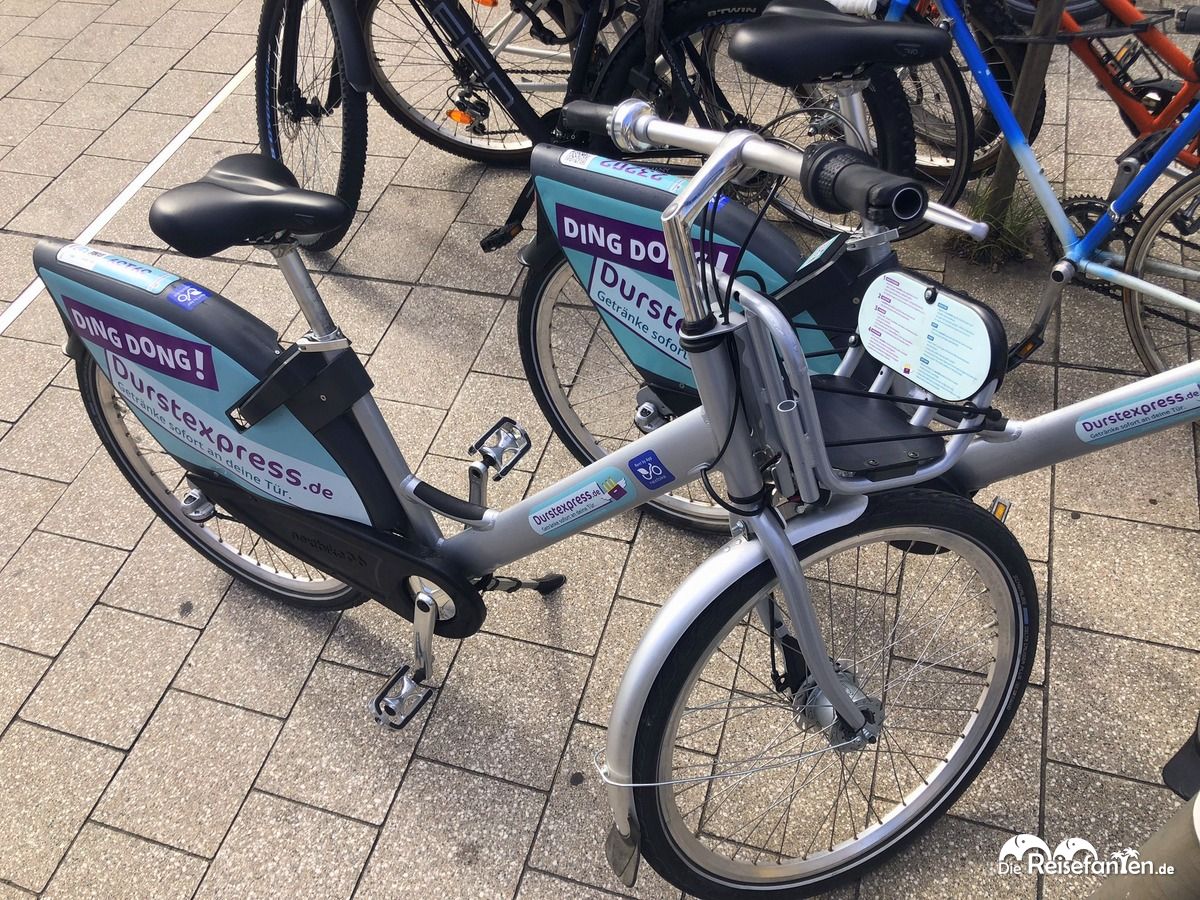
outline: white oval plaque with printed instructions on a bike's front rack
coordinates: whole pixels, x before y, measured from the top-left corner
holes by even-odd
[[[974,396],[991,370],[983,317],[906,272],[871,282],[858,310],[858,335],[872,358],[942,400]]]

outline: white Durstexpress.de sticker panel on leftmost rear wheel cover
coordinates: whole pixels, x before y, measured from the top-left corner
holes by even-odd
[[[188,403],[136,362],[112,350],[106,350],[106,356],[109,380],[138,413],[227,474],[280,503],[368,521],[362,500],[344,475],[251,440],[228,421]]]

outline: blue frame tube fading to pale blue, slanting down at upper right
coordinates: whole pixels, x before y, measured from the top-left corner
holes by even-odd
[[[888,6],[888,20],[899,22],[904,18],[910,2],[911,0],[892,0],[892,4]],[[983,92],[988,109],[991,110],[991,114],[1000,124],[1000,130],[1003,132],[1004,139],[1008,140],[1008,145],[1013,150],[1013,156],[1016,157],[1018,166],[1021,167],[1021,172],[1025,173],[1025,178],[1033,188],[1038,203],[1045,210],[1046,218],[1050,220],[1050,226],[1054,228],[1055,234],[1058,235],[1058,240],[1062,241],[1062,246],[1067,247],[1068,251],[1074,250],[1075,244],[1079,241],[1079,235],[1075,234],[1070,220],[1063,212],[1062,204],[1058,203],[1058,197],[1055,194],[1049,179],[1046,179],[1045,170],[1033,155],[1025,132],[1021,131],[1016,116],[1013,115],[1012,107],[1008,106],[1003,91],[1001,91],[1000,85],[996,83],[996,77],[988,68],[988,61],[983,58],[983,50],[979,49],[979,43],[974,40],[974,35],[971,34],[971,29],[967,28],[966,16],[959,7],[958,0],[938,0],[938,7],[949,18],[950,34],[954,35],[954,42],[958,44],[962,58],[967,61],[967,66],[971,67],[971,74]],[[1111,229],[1112,224],[1110,223],[1108,228]]]

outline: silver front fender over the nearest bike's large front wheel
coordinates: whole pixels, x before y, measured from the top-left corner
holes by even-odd
[[[797,516],[787,524],[794,547],[834,528],[847,526],[866,510],[865,496],[835,497],[824,509]],[[637,872],[637,817],[634,811],[634,738],[646,698],[659,671],[684,634],[713,601],[738,578],[767,562],[756,540],[734,538],[706,559],[676,588],[634,650],[622,676],[617,698],[608,714],[605,781],[612,806],[613,830],[605,850],[608,862],[626,884]]]

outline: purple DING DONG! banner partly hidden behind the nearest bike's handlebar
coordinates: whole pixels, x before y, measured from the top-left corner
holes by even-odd
[[[558,204],[557,212],[558,244],[563,250],[577,250],[660,278],[674,277],[667,263],[667,247],[661,229],[620,222],[563,204]],[[700,241],[692,238],[691,244],[698,259]],[[716,240],[713,241],[713,264],[728,275],[733,269],[737,248]]]

